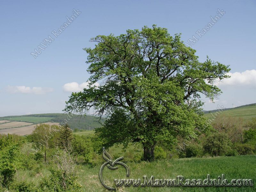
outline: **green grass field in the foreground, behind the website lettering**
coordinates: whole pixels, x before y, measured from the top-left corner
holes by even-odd
[[[166,161],[155,161],[152,163],[127,163],[130,168],[130,179],[142,179],[147,175],[154,175],[155,179],[175,179],[178,175],[185,179],[205,179],[207,174],[210,178],[217,179],[221,174],[230,182],[231,179],[252,179],[253,184],[256,181],[256,156],[232,156],[232,157],[210,157],[210,158],[182,158]],[[102,187],[99,180],[100,165],[92,167],[90,165],[79,164],[79,183],[84,192],[104,192],[108,191]],[[36,176],[30,177],[29,171],[19,170],[15,176],[18,180],[29,180],[36,183],[49,174],[47,168]],[[126,179],[125,169],[119,166],[116,170],[104,168],[103,178],[105,182],[112,185],[114,179]],[[113,186],[113,185],[112,185]],[[253,187],[121,187],[119,192],[192,192],[192,191],[256,191]]]

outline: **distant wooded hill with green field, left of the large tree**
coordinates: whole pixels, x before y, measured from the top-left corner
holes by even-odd
[[[65,124],[68,123],[71,129],[86,129],[92,130],[100,127],[105,121],[105,118],[97,118],[93,116],[80,116],[75,114],[62,114],[62,113],[45,113],[45,114],[32,114],[20,116],[4,116],[0,120],[22,121],[28,123],[45,123],[53,122]]]

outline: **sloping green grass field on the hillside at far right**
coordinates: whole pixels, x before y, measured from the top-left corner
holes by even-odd
[[[212,112],[215,114],[215,112]],[[211,118],[211,113],[206,113],[205,116]],[[245,121],[256,117],[256,105],[248,106],[248,107],[241,107],[241,108],[234,108],[229,110],[224,110],[220,116],[231,116],[231,117],[242,117]]]

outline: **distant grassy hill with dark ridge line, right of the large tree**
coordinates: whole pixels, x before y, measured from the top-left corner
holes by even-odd
[[[204,115],[211,118],[211,116],[214,115],[216,111],[220,112],[221,110],[217,109],[217,110],[205,111]],[[234,109],[226,108],[221,112],[220,115],[231,116],[231,117],[242,117],[245,121],[247,121],[253,117],[256,117],[256,103],[234,107]]]

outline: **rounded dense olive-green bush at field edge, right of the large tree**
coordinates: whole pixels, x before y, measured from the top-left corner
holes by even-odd
[[[209,135],[204,144],[204,150],[212,156],[227,156],[230,153],[230,140],[225,133],[213,133]]]

